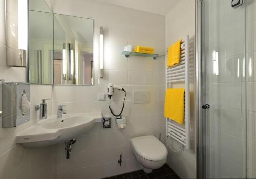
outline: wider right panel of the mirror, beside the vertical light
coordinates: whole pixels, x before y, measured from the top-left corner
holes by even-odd
[[[93,84],[93,20],[54,14],[54,84]]]

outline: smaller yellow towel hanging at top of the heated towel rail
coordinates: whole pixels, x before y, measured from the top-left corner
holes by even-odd
[[[167,67],[174,66],[180,63],[180,43],[181,40],[175,42],[168,48]]]

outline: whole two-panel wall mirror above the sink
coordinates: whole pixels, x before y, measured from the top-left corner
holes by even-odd
[[[30,83],[93,85],[94,21],[29,11]]]

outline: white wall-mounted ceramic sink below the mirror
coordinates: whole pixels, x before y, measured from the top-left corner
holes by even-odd
[[[53,115],[19,133],[16,143],[33,148],[65,142],[90,130],[101,119],[101,113],[66,114],[61,119]]]

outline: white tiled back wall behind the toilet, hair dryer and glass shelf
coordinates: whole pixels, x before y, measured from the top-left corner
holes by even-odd
[[[110,129],[96,123],[92,130],[77,138],[72,156],[65,158],[64,144],[52,147],[54,178],[102,178],[138,170],[138,164],[129,146],[132,137],[155,135],[165,141],[164,93],[165,59],[121,55],[127,44],[152,46],[156,53],[164,54],[165,18],[138,10],[100,3],[97,1],[48,1],[54,13],[94,19],[94,86],[54,86],[53,113],[59,104],[65,104],[68,113],[102,111],[110,116],[108,101],[98,101],[98,93],[106,93],[108,83],[126,89],[123,115],[126,129],[119,130],[112,116]],[[52,4],[51,4],[52,3]],[[72,8],[70,8],[72,6]],[[104,28],[104,77],[99,78],[98,36],[99,26]],[[150,91],[150,103],[133,104],[133,90]],[[115,91],[111,106],[121,110],[124,94]],[[117,162],[122,154],[122,166]]]

